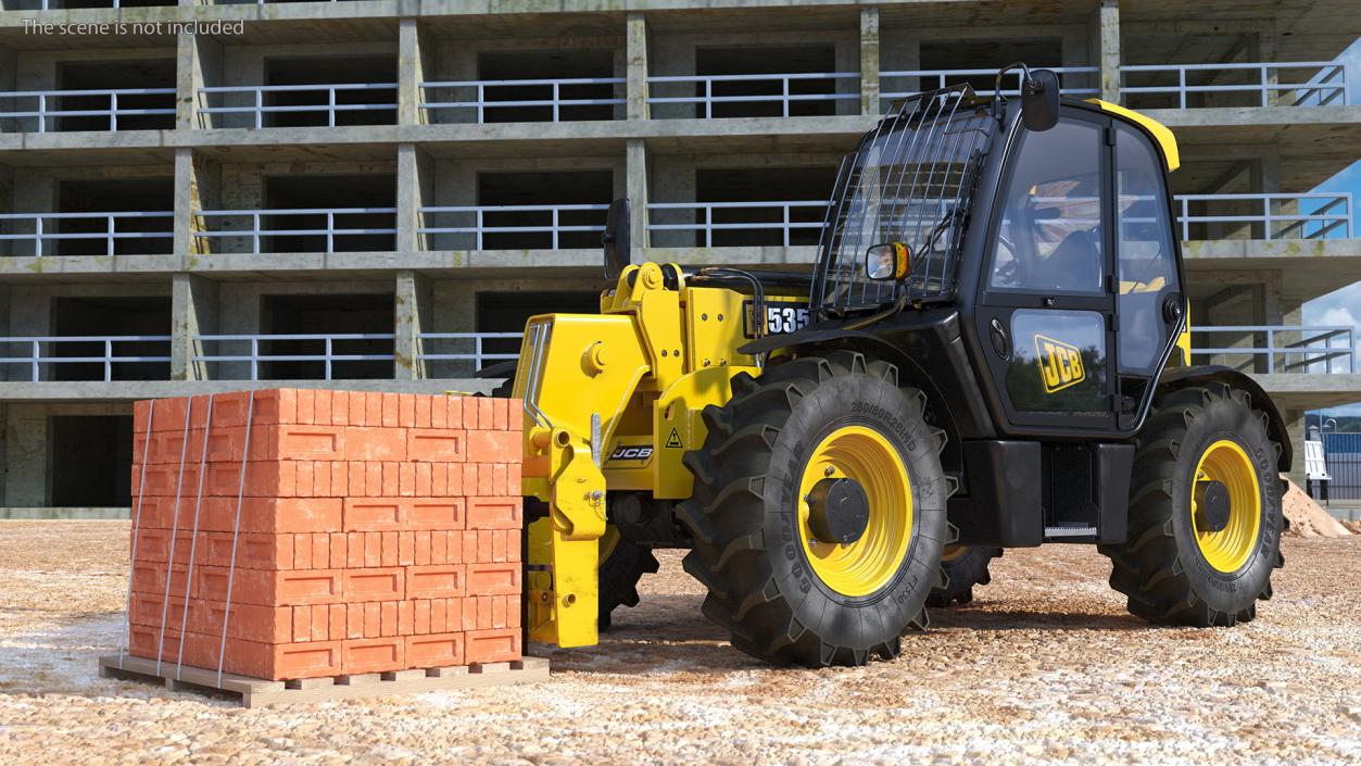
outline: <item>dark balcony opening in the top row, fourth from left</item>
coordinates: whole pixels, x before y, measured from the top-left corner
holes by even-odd
[[[698,48],[694,52],[695,75],[795,75],[833,73],[837,71],[837,50],[827,45],[799,46],[742,46]],[[666,83],[660,83],[666,84]],[[826,98],[838,93],[859,93],[853,80],[830,78],[792,79],[788,84],[789,117],[825,116],[837,113],[837,101]],[[740,101],[719,101],[709,105],[710,117],[781,117],[785,114],[784,82],[780,79],[698,82],[691,95],[695,98],[738,97]],[[768,101],[747,101],[761,97]],[[814,97],[814,98],[799,98]],[[695,117],[705,117],[705,103],[695,103]]]

